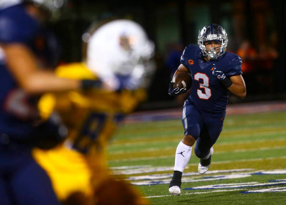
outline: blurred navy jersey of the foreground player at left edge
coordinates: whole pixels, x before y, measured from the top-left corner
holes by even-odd
[[[0,10],[0,44],[20,43],[33,50],[40,24],[19,4]],[[35,114],[35,104],[21,90],[5,64],[5,54],[0,48],[0,135],[24,139],[30,135],[30,119]]]

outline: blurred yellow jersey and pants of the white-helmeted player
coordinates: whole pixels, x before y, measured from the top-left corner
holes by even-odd
[[[97,79],[84,63],[60,66],[55,72],[63,78]],[[40,115],[47,119],[57,111],[69,133],[67,140],[55,148],[35,148],[32,151],[37,163],[50,176],[59,200],[64,201],[77,192],[92,198],[94,190],[110,180],[106,168],[106,144],[122,117],[145,98],[145,91],[140,89],[120,92],[77,90],[47,93],[41,97],[38,104]],[[138,204],[147,204],[137,192],[130,193],[138,198]]]

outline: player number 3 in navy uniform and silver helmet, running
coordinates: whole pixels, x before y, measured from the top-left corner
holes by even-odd
[[[213,154],[212,146],[223,129],[229,92],[240,98],[246,96],[246,86],[241,76],[242,60],[226,51],[227,43],[227,34],[220,25],[205,25],[199,31],[199,46],[186,46],[181,64],[174,74],[191,73],[192,87],[183,106],[182,123],[185,132],[175,153],[170,194],[181,194],[182,173],[196,141],[195,154],[200,158],[198,172],[204,174],[208,170]],[[186,89],[174,89],[173,83],[170,83],[170,95],[185,92]]]

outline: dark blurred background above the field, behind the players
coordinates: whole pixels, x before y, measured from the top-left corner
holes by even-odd
[[[88,1],[69,0],[53,16],[62,53],[60,62],[81,61],[81,36],[89,25],[109,17],[141,24],[156,45],[157,70],[141,109],[179,106],[168,95],[169,82],[184,47],[197,44],[198,31],[220,24],[229,38],[228,51],[242,57],[247,96],[230,96],[230,103],[286,99],[285,1]]]

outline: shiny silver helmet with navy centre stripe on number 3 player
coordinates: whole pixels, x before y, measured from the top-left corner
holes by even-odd
[[[220,41],[221,45],[219,47],[206,48],[206,41]],[[202,50],[202,54],[205,57],[209,57],[211,60],[215,60],[224,54],[227,42],[227,34],[224,28],[218,24],[208,24],[205,25],[202,30],[199,30],[197,43]]]

